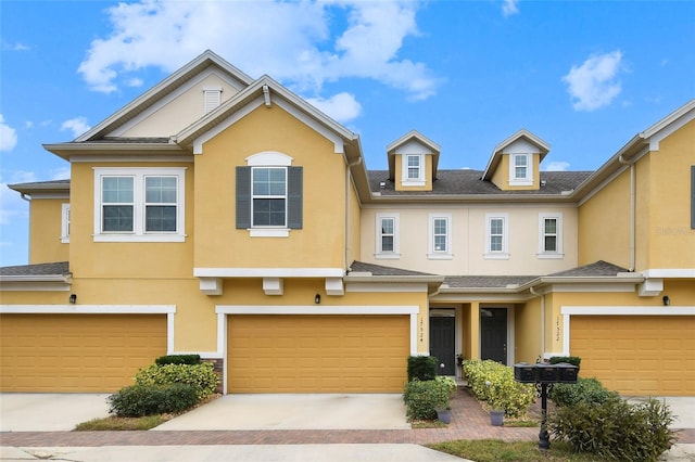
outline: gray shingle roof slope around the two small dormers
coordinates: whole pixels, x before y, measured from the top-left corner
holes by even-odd
[[[395,191],[393,181],[389,180],[388,170],[370,170],[369,188],[372,192],[384,195],[437,195],[437,194],[500,194],[500,195],[539,195],[557,194],[576,189],[592,171],[541,171],[541,181],[545,184],[539,190],[502,191],[490,181],[483,181],[482,170],[439,170],[432,191]],[[380,183],[384,182],[386,188]]]

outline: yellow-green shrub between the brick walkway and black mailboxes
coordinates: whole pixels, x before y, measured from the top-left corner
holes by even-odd
[[[504,410],[508,418],[525,415],[535,400],[533,384],[516,382],[510,367],[492,360],[467,360],[464,372],[473,395],[492,409]]]

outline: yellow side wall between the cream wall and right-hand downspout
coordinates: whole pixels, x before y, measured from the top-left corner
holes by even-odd
[[[579,207],[579,261],[597,260],[630,268],[630,170]]]

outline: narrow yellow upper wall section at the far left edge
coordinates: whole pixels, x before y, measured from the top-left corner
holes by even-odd
[[[63,207],[70,198],[31,198],[29,203],[29,264],[66,261]]]

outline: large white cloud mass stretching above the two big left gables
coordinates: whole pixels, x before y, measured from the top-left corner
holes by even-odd
[[[268,74],[295,91],[358,77],[401,89],[412,100],[441,80],[425,63],[401,57],[417,36],[412,1],[191,2],[142,0],[108,10],[112,33],[92,41],[78,72],[113,92],[147,66],[173,72],[205,49],[253,77]],[[339,27],[342,28],[338,30]]]

